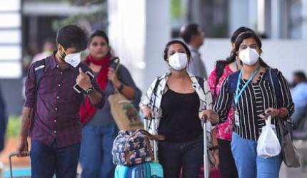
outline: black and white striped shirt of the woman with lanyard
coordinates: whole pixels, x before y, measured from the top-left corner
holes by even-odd
[[[218,95],[213,110],[216,111],[220,117],[221,122],[225,122],[228,116],[228,110],[234,107],[238,112],[238,122],[233,122],[233,130],[243,138],[248,140],[258,140],[261,134],[261,129],[266,125],[265,121],[258,117],[263,114],[268,108],[277,108],[276,93],[271,86],[271,82],[266,80],[266,73],[261,73],[256,83],[249,83],[242,95],[238,99],[238,104],[234,106],[233,98],[235,93],[229,93],[228,80],[224,80],[221,86],[221,92]],[[237,81],[237,80],[236,80]],[[289,114],[292,115],[294,111],[294,104],[292,102],[291,93],[286,83],[286,79],[281,72],[278,71],[278,81],[282,93],[282,107],[287,108]],[[239,88],[243,88],[247,80],[241,79]],[[276,126],[277,135],[280,135],[278,125],[283,120],[280,118],[273,119],[272,123]]]

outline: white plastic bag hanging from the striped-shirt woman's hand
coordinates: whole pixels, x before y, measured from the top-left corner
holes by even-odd
[[[262,132],[258,138],[258,157],[275,157],[281,153],[281,144],[276,136],[275,125],[271,124],[271,116],[268,116],[266,125],[262,127]]]

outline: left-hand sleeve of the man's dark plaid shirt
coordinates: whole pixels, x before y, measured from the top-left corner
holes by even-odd
[[[30,66],[28,70],[25,87],[26,87],[26,102],[24,106],[29,108],[34,108],[36,101],[36,76],[33,64]]]

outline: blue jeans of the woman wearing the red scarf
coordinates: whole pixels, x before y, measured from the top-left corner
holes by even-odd
[[[83,127],[80,152],[82,178],[114,177],[111,151],[117,133],[115,124]]]

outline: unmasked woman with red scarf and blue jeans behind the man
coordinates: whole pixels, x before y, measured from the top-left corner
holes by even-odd
[[[140,100],[141,93],[138,93],[129,70],[120,64],[117,73],[114,71],[114,56],[104,31],[98,30],[91,34],[89,52],[84,62],[94,71],[106,98],[114,94],[117,88],[127,99]],[[112,162],[111,150],[119,130],[111,115],[109,100],[106,100],[101,110],[96,110],[89,100],[86,100],[85,105],[81,106],[80,114],[84,125],[80,153],[81,177],[114,177],[115,165]]]

